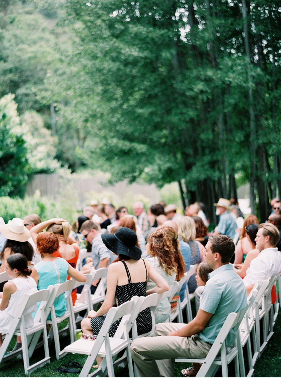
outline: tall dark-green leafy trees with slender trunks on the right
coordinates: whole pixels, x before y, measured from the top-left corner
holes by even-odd
[[[236,196],[239,173],[265,218],[281,189],[277,3],[69,0],[64,7],[68,22],[82,23],[76,59],[84,96],[93,98],[87,119],[112,180],[184,179],[189,199],[214,209],[217,198]]]

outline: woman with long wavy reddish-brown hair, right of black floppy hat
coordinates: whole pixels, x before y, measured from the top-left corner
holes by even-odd
[[[154,269],[166,280],[168,285],[172,285],[175,280],[179,281],[184,274],[185,262],[180,253],[179,239],[177,233],[171,227],[163,227],[153,232],[147,237],[146,259]],[[147,289],[155,286],[152,280],[147,281]],[[175,302],[176,303],[176,302]],[[155,311],[155,322],[165,322],[170,314],[171,304],[168,298],[160,301]]]

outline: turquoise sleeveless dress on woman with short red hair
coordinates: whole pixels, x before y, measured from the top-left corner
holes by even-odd
[[[54,261],[41,261],[34,266],[33,269],[36,269],[39,280],[37,283],[37,289],[47,289],[49,285],[55,285],[56,283],[63,283],[67,279],[68,263],[58,257]],[[40,306],[40,303],[37,304],[37,310]],[[37,312],[36,310],[36,312]],[[64,294],[61,294],[54,301],[54,310],[56,316],[62,316],[66,311],[66,303],[64,299]],[[33,318],[36,313],[33,314]],[[51,318],[49,316],[49,318]],[[49,319],[48,318],[48,319]]]

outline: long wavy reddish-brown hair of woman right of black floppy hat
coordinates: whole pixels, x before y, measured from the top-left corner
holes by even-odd
[[[172,227],[163,227],[147,237],[151,257],[157,257],[169,276],[177,274],[180,280],[185,272],[185,262],[180,253],[180,244],[177,232]]]

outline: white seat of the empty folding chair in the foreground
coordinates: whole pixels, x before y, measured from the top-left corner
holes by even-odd
[[[112,351],[112,355],[115,355],[116,353],[120,352],[120,350],[125,349],[128,344],[126,340],[117,339],[114,337],[110,337],[109,342],[110,342],[110,349]],[[89,355],[91,353],[94,343],[95,341],[79,339],[73,342],[72,344],[68,345],[67,347],[65,347],[64,352]],[[100,357],[106,356],[106,349],[105,349],[104,342],[101,346],[101,349],[99,350],[98,356]]]

